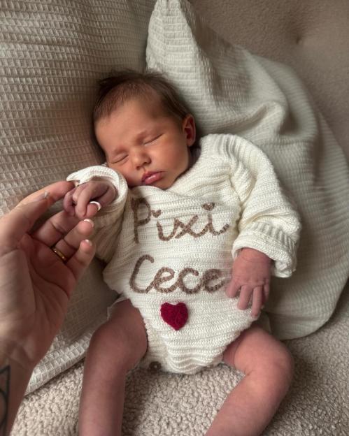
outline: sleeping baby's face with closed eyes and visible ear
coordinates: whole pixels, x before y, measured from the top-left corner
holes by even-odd
[[[167,189],[189,166],[195,125],[191,115],[183,122],[170,117],[159,97],[150,96],[123,103],[97,122],[95,133],[108,166],[119,171],[129,187]]]

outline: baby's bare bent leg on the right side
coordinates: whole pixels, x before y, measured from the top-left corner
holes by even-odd
[[[227,396],[206,436],[258,436],[290,387],[292,356],[285,345],[252,326],[227,347],[223,360],[245,377]]]

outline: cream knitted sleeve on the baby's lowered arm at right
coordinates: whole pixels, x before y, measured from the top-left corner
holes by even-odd
[[[299,215],[283,194],[266,155],[243,138],[227,136],[226,140],[232,187],[241,206],[233,259],[243,247],[254,248],[273,259],[273,275],[289,277],[297,264]]]

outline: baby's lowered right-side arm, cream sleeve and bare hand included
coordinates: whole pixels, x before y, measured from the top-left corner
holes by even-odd
[[[241,208],[227,295],[240,293],[239,308],[246,308],[252,298],[252,314],[257,315],[269,296],[271,275],[290,277],[296,267],[301,224],[266,155],[237,136],[220,140],[231,161],[232,189]]]

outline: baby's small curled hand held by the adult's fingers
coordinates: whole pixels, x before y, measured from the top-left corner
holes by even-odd
[[[91,218],[110,204],[117,191],[108,180],[91,180],[71,189],[63,200],[63,208],[69,215],[79,219]]]

